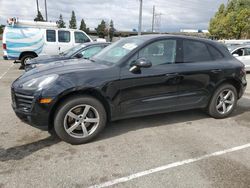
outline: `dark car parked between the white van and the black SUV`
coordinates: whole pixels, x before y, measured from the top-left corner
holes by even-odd
[[[60,55],[43,55],[36,57],[27,61],[25,64],[25,71],[29,71],[38,66],[47,65],[48,63],[60,61],[60,60],[69,60],[77,58],[91,58],[103,48],[107,47],[110,43],[108,42],[87,42],[80,44],[73,48],[70,48],[66,52],[62,52]]]

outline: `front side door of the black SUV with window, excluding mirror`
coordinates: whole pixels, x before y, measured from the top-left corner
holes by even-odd
[[[179,83],[176,57],[177,40],[164,39],[153,42],[137,52],[121,68],[120,106],[125,117],[172,111],[177,103]],[[131,63],[145,58],[152,63],[150,68],[141,68],[139,73],[129,71]]]

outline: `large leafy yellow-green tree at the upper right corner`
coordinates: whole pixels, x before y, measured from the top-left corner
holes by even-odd
[[[250,1],[230,0],[210,20],[209,32],[218,39],[250,37]]]

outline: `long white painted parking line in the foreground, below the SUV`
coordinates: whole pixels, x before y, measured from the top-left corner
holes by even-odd
[[[142,176],[147,176],[149,174],[164,171],[164,170],[167,170],[167,169],[170,169],[170,168],[174,168],[174,167],[182,166],[182,165],[185,165],[185,164],[197,162],[197,161],[207,159],[207,158],[210,158],[210,157],[214,157],[214,156],[220,156],[220,155],[223,155],[223,154],[226,154],[226,153],[231,153],[231,152],[234,152],[234,151],[239,151],[239,150],[246,149],[246,148],[249,148],[249,147],[250,147],[250,143],[245,144],[245,145],[241,145],[241,146],[237,146],[237,147],[233,147],[233,148],[230,148],[230,149],[222,150],[222,151],[217,151],[217,152],[207,154],[207,155],[203,155],[203,156],[200,156],[200,157],[197,157],[197,158],[186,159],[186,160],[183,160],[183,161],[170,163],[170,164],[160,166],[160,167],[157,167],[157,168],[152,168],[152,169],[149,169],[149,170],[145,170],[145,171],[142,171],[142,172],[131,174],[129,176],[125,176],[125,177],[114,179],[114,180],[111,180],[111,181],[107,181],[107,182],[104,182],[104,183],[101,183],[101,184],[93,185],[93,186],[90,186],[89,188],[109,187],[109,186],[112,186],[112,185],[115,185],[115,184],[118,184],[118,183],[124,183],[124,182],[127,182],[127,181],[131,181],[133,179],[136,179],[136,178],[139,178],[139,177],[142,177]]]

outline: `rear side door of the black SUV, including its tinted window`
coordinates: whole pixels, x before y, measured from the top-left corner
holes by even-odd
[[[182,109],[207,105],[211,88],[223,76],[223,54],[205,42],[183,39],[178,103]]]

